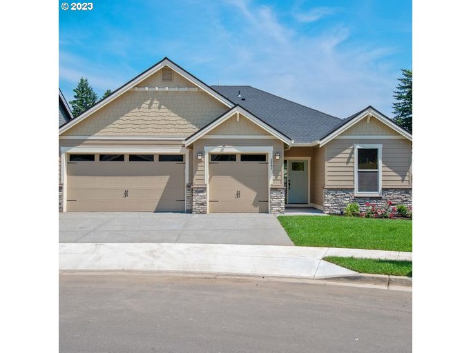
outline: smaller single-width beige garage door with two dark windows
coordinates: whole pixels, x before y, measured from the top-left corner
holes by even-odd
[[[267,154],[210,154],[209,212],[268,212]]]

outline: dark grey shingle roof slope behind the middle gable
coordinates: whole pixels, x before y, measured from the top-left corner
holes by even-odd
[[[295,143],[316,141],[343,122],[340,118],[249,85],[213,85],[211,88],[287,134]],[[239,91],[240,98],[237,97]]]

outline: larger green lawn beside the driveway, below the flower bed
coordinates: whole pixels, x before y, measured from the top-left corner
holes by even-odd
[[[278,216],[298,246],[412,251],[412,221],[345,216]]]

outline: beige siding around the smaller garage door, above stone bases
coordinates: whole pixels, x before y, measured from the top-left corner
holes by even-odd
[[[200,139],[193,143],[193,184],[204,185],[204,146],[273,146],[273,185],[282,185],[283,148],[284,143],[278,139]],[[198,152],[203,158],[198,160]],[[280,159],[274,154],[280,152]]]

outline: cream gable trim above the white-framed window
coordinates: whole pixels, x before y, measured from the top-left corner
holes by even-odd
[[[327,132],[327,134],[325,134],[322,138],[319,139],[319,145],[322,147],[327,142],[331,141],[332,139],[335,139],[336,137],[338,137],[339,134],[345,132],[345,130],[351,128],[353,125],[358,123],[358,121],[361,121],[361,119],[368,116],[375,117],[382,123],[385,123],[385,125],[387,125],[389,128],[392,128],[392,130],[398,132],[398,134],[401,134],[406,139],[412,141],[412,134],[410,134],[410,132],[407,132],[407,130],[401,128],[401,126],[397,125],[396,122],[386,117],[385,114],[372,107],[372,105],[368,105],[365,109],[360,110],[359,112],[356,112],[350,117],[340,121],[338,125],[334,126],[334,128],[332,128],[329,132]]]

